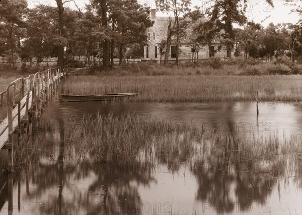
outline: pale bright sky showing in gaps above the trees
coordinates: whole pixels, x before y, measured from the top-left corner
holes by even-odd
[[[64,0],[63,0],[64,1]],[[152,9],[156,9],[155,0],[137,0],[142,5],[149,6]],[[89,0],[74,0],[77,6],[84,10],[85,4],[89,3]],[[194,6],[203,6],[202,11],[205,11],[207,7],[213,4],[213,1],[206,0],[191,0],[192,8]],[[56,6],[54,0],[28,0],[29,7],[34,7],[37,4]],[[292,0],[295,6],[284,5],[284,0],[273,0],[274,7],[269,6],[266,1],[251,0],[247,2],[247,17],[249,20],[254,20],[256,23],[261,23],[263,26],[267,26],[269,23],[297,23],[299,17],[295,13],[290,13],[291,9],[294,9],[298,5],[302,6],[302,0]],[[77,10],[73,2],[65,3],[66,7]],[[162,12],[157,12],[157,16],[169,16]],[[268,17],[268,18],[267,18]],[[267,19],[266,19],[267,18]],[[265,20],[265,21],[263,21]],[[262,22],[263,21],[263,22]]]

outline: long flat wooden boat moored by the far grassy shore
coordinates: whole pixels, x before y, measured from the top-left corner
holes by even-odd
[[[125,97],[136,96],[137,93],[114,93],[114,94],[99,94],[99,95],[65,95],[61,94],[62,102],[82,102],[82,101],[108,101],[122,99]]]

